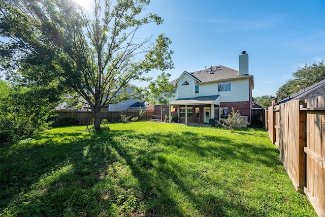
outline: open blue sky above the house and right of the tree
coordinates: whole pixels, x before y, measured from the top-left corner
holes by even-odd
[[[238,70],[245,50],[253,97],[275,96],[298,67],[325,59],[325,1],[152,0],[146,12],[164,18],[145,31],[172,40],[171,80],[205,66]]]

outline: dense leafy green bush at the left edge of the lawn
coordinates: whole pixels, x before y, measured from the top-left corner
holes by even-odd
[[[25,88],[0,80],[0,131],[11,130],[17,136],[47,129],[53,102],[46,89]],[[56,100],[54,100],[56,102]]]

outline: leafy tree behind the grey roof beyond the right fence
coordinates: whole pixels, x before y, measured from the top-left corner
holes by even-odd
[[[288,80],[276,92],[278,101],[325,79],[324,60],[312,65],[305,64],[304,67],[299,67],[298,70],[293,73],[293,76],[294,79]]]

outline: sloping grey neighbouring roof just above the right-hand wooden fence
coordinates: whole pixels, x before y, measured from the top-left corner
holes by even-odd
[[[300,99],[308,99],[312,97],[319,97],[324,94],[325,94],[325,79],[309,87],[299,90],[295,94],[290,95],[289,97],[279,101],[278,103],[276,103],[276,105],[285,103],[290,100],[300,100]]]

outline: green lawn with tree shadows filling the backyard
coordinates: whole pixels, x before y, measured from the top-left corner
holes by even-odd
[[[0,149],[2,216],[316,216],[263,129],[130,122]]]

